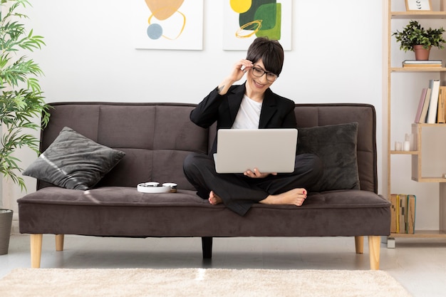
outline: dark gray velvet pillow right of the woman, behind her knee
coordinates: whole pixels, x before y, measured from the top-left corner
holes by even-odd
[[[297,153],[321,158],[323,175],[312,189],[359,189],[356,144],[358,123],[299,128]]]

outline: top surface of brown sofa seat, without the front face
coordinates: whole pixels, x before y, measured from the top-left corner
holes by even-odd
[[[19,199],[26,204],[60,204],[60,205],[91,205],[91,206],[131,206],[131,207],[171,207],[196,206],[207,208],[224,208],[223,204],[209,205],[206,199],[195,194],[195,191],[178,189],[176,193],[147,194],[138,192],[133,187],[101,187],[80,191],[60,187],[46,187]],[[383,207],[387,200],[373,192],[361,190],[336,190],[321,193],[310,193],[301,207],[293,205],[254,204],[256,209],[331,209],[361,207]]]

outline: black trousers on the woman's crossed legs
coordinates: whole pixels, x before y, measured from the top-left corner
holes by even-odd
[[[209,192],[214,191],[227,208],[243,216],[252,204],[270,194],[281,194],[296,188],[311,191],[321,177],[322,163],[316,155],[297,155],[294,172],[270,174],[257,179],[243,174],[217,173],[212,157],[193,152],[186,157],[183,170],[199,197],[208,199]]]

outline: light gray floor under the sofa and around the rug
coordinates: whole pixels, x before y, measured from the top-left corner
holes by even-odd
[[[212,261],[203,261],[199,238],[119,239],[66,236],[56,252],[54,236],[43,236],[42,268],[222,268],[369,269],[355,254],[353,238],[214,239]],[[9,254],[0,256],[0,278],[29,267],[29,237],[11,236]],[[415,297],[446,296],[446,239],[397,239],[396,249],[381,244],[380,269],[388,271]]]

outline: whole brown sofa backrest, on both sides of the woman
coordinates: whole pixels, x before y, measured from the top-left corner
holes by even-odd
[[[209,152],[215,126],[198,127],[190,121],[194,104],[184,103],[51,103],[48,126],[41,132],[41,152],[63,127],[125,152],[125,157],[98,183],[136,187],[140,182],[187,182],[182,162],[190,152]],[[364,104],[296,105],[298,127],[357,122],[358,170],[361,189],[378,192],[376,174],[375,109]],[[37,187],[51,184],[38,181]]]

